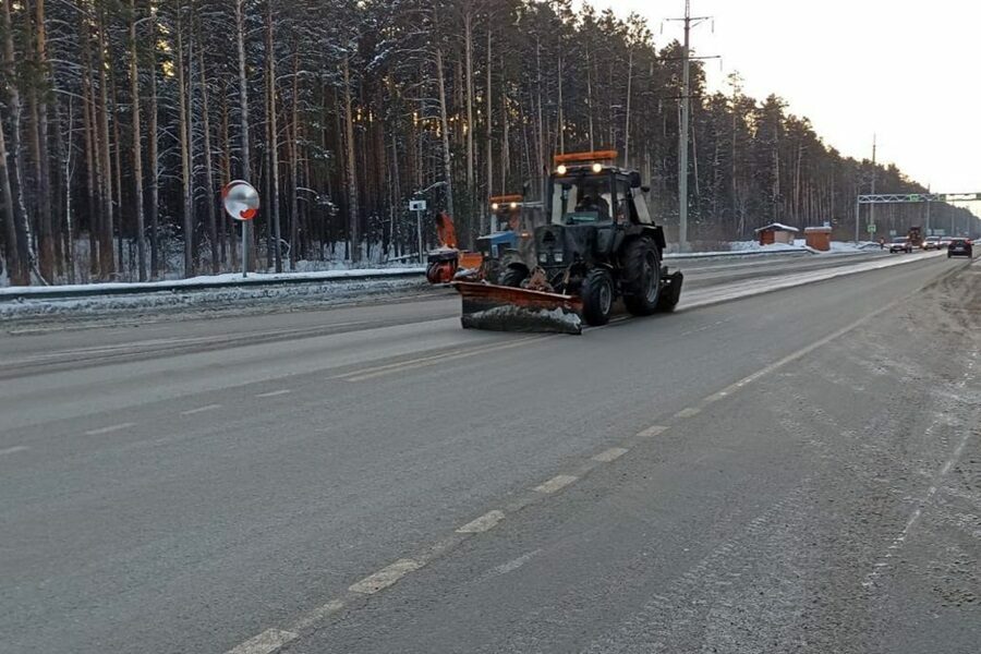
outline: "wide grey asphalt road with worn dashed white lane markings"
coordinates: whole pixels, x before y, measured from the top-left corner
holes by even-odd
[[[0,651],[976,652],[977,266],[768,279],[0,337]]]

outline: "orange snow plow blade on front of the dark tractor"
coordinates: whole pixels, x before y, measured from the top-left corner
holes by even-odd
[[[453,287],[463,299],[465,329],[582,334],[579,298],[469,281]]]

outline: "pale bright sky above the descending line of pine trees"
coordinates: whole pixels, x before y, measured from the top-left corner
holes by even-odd
[[[658,45],[680,40],[683,0],[590,0],[650,20]],[[713,15],[692,32],[712,88],[738,71],[746,93],[776,93],[825,143],[895,162],[934,192],[981,192],[981,1],[692,0]],[[881,191],[887,192],[887,189]]]

